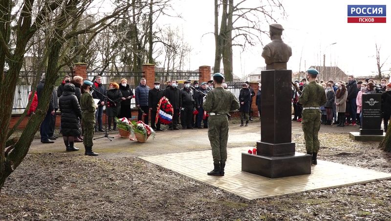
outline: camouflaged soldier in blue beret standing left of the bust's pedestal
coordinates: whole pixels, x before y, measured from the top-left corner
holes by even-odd
[[[208,137],[212,146],[214,169],[211,176],[224,176],[227,160],[228,117],[230,110],[239,109],[239,100],[221,87],[224,77],[220,73],[213,75],[214,90],[204,97],[203,108],[209,112]]]

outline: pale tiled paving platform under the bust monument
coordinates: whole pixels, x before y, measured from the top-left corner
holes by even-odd
[[[213,169],[211,150],[140,158],[249,200],[391,178],[389,173],[318,160],[309,175],[269,179],[241,171],[241,153],[248,149],[250,147],[228,149],[223,177],[206,174]]]

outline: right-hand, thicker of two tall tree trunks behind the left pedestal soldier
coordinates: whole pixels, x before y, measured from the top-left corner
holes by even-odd
[[[227,26],[225,34],[225,45],[223,47],[223,66],[225,81],[233,81],[232,64],[232,13],[234,9],[234,0],[229,0],[229,11],[227,16]]]

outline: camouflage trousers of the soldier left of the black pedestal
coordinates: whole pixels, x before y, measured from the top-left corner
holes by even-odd
[[[228,118],[226,115],[209,116],[208,137],[212,147],[213,161],[226,161],[228,142]]]

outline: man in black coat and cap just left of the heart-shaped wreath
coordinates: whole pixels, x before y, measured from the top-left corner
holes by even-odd
[[[157,104],[159,103],[160,99],[163,97],[163,89],[160,89],[160,82],[155,81],[153,83],[153,88],[148,93],[148,106],[151,111],[151,127],[155,131],[162,131],[160,129],[160,120],[157,120],[156,122],[156,113],[157,113]]]

